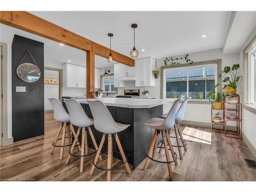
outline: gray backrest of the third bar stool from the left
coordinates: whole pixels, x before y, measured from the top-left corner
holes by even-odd
[[[98,100],[87,100],[94,118],[94,127],[96,130],[106,134],[113,134],[120,132],[112,115],[110,114],[106,105]]]

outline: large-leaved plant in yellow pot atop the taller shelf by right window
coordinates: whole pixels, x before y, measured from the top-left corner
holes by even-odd
[[[227,66],[219,74],[219,77],[225,77],[222,82],[226,83],[224,84],[223,89],[226,89],[227,93],[234,94],[237,91],[237,82],[242,77],[237,75],[237,70],[239,69],[239,67],[239,64],[234,64],[232,68]]]

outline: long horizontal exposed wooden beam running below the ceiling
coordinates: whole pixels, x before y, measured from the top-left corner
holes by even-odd
[[[96,55],[105,58],[109,55],[109,48],[26,11],[0,11],[0,23],[83,51],[90,51],[93,45],[94,53]],[[112,55],[114,56],[115,61],[128,66],[134,66],[134,59],[132,58],[116,51],[112,51]]]

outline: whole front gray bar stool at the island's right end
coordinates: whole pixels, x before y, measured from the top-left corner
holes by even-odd
[[[165,119],[157,117],[157,118],[153,118],[153,119],[144,123],[146,126],[151,127],[152,129],[156,130],[155,134],[154,134],[154,137],[152,139],[150,148],[149,148],[149,150],[146,151],[146,157],[147,158],[146,158],[146,161],[145,161],[145,164],[144,164],[144,170],[147,169],[148,162],[149,162],[150,159],[153,160],[153,161],[156,161],[158,163],[166,163],[167,167],[168,167],[169,179],[170,180],[173,180],[173,172],[172,172],[172,167],[170,166],[170,163],[175,162],[175,165],[177,165],[178,163],[177,163],[177,155],[174,152],[173,145],[170,142],[169,135],[167,134],[167,132],[175,124],[175,114],[176,114],[176,110],[177,110],[179,100],[180,99],[177,99],[174,102],[172,108],[170,109],[170,111],[169,111],[169,113],[168,113],[168,115],[166,116]],[[154,156],[155,156],[155,153],[156,153],[156,148],[161,147],[161,146],[160,147],[157,146],[160,132],[161,132],[162,137],[163,137],[164,147],[162,147],[162,148],[164,148],[164,151],[165,151],[166,161],[159,161],[159,160],[154,159]],[[168,148],[168,146],[169,146],[169,148]],[[170,160],[168,150],[170,150],[170,152],[172,153],[173,160]]]

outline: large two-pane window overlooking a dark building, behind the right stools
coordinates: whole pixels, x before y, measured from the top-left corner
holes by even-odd
[[[164,98],[209,99],[217,83],[217,64],[164,70]]]

